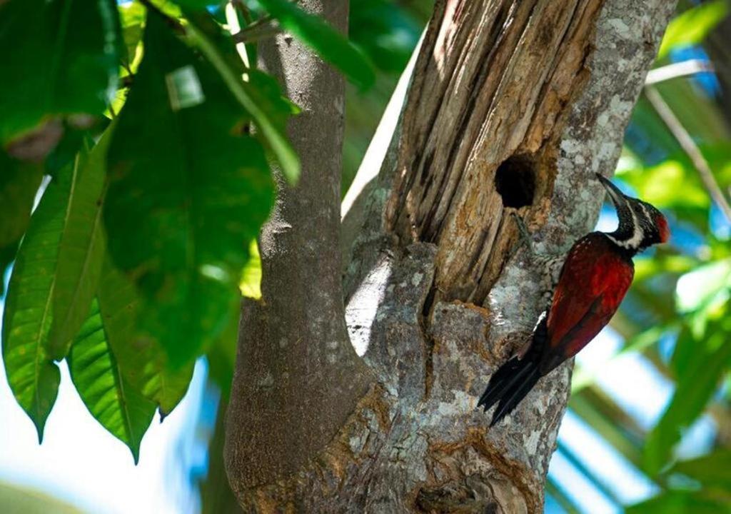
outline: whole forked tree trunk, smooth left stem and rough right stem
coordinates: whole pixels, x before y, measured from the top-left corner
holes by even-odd
[[[344,26],[344,2],[303,4]],[[543,253],[591,230],[674,4],[437,1],[344,286],[341,88],[287,36],[262,49],[305,107],[303,179],[243,306],[225,458],[245,512],[542,510],[570,363],[494,428],[474,409],[543,307],[510,213]]]

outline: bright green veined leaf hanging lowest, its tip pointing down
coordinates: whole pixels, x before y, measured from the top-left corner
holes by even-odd
[[[122,375],[107,343],[97,301],[71,347],[69,371],[88,411],[132,450],[137,464],[140,442],[155,415],[156,405]]]

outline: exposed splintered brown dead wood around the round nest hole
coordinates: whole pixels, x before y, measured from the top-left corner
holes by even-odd
[[[485,303],[516,241],[508,209],[545,222],[602,3],[447,1],[434,18],[387,219],[404,244],[439,248],[435,301]]]

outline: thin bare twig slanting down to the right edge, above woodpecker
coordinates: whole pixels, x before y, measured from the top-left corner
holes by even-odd
[[[705,157],[701,153],[700,148],[698,148],[698,145],[695,144],[695,141],[685,127],[683,127],[680,120],[678,120],[675,116],[673,110],[670,109],[670,106],[667,105],[654,87],[645,87],[645,96],[651,103],[652,107],[654,107],[663,123],[667,126],[675,139],[678,140],[683,151],[685,151],[685,153],[690,157],[693,166],[700,176],[700,181],[703,183],[703,186],[705,186],[708,194],[711,195],[713,201],[719,206],[719,208],[721,208],[724,216],[726,216],[726,219],[731,223],[731,205],[729,205],[727,198],[724,196],[723,191],[721,191],[721,187],[718,182],[716,182],[716,178],[713,176],[713,172],[711,171],[711,166],[708,165],[708,161],[705,160]]]

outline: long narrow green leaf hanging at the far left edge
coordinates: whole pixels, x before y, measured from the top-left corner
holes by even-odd
[[[18,250],[2,323],[2,352],[15,399],[43,439],[61,377],[45,350],[53,316],[58,244],[71,189],[71,170],[48,184]]]

